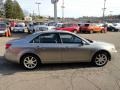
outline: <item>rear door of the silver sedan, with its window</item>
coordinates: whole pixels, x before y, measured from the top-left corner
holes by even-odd
[[[60,63],[61,49],[59,48],[60,39],[57,33],[45,33],[36,37],[37,53],[42,63]]]

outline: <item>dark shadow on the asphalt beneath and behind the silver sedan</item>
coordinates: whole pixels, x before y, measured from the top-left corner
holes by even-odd
[[[25,70],[21,65],[6,61],[0,56],[0,75],[13,75],[18,72],[32,71],[59,71],[69,69],[94,68],[90,63],[40,64],[37,69]]]

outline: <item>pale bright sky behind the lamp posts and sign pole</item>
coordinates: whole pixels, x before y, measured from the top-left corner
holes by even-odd
[[[23,10],[38,14],[40,2],[40,15],[54,16],[54,6],[51,0],[17,0]],[[57,3],[58,17],[62,17],[62,1]],[[64,17],[102,16],[104,0],[64,0]],[[120,14],[120,0],[106,0],[105,15]]]

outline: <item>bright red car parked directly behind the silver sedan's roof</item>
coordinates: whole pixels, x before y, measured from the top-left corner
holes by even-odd
[[[62,24],[61,26],[56,27],[55,29],[74,32],[74,33],[79,32],[79,26],[77,24]]]

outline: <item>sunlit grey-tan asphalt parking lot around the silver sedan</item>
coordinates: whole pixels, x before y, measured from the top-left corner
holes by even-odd
[[[79,34],[115,44],[118,53],[104,67],[88,63],[50,64],[33,71],[23,70],[3,58],[5,43],[26,35],[0,37],[0,90],[120,90],[120,32]]]

